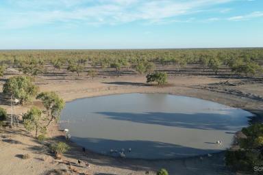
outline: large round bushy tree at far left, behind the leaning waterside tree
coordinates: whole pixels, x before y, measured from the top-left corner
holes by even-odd
[[[3,85],[3,93],[10,94],[11,98],[17,98],[21,104],[36,96],[38,87],[34,85],[34,79],[26,76],[12,77]]]

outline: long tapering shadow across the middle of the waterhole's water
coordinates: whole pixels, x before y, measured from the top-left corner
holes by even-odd
[[[176,126],[188,129],[238,131],[240,127],[245,125],[244,120],[237,120],[237,118],[220,113],[125,113],[108,111],[97,113],[108,116],[112,120]]]

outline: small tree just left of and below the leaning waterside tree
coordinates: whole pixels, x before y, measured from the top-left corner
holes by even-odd
[[[27,131],[36,131],[35,137],[38,137],[38,130],[41,127],[42,111],[37,107],[32,107],[23,115],[23,124]]]

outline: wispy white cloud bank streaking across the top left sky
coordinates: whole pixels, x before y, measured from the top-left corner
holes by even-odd
[[[182,21],[176,19],[179,16],[203,12],[229,1],[234,0],[5,0],[5,6],[0,5],[0,27],[60,23],[116,25],[133,21],[175,23]]]

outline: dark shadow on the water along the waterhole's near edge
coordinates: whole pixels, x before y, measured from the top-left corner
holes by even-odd
[[[123,152],[124,149],[125,156],[129,159],[178,159],[221,151],[220,149],[190,148],[176,144],[143,140],[123,141],[83,137],[71,137],[71,140],[80,146],[87,146],[89,150],[111,157],[120,157],[120,152]],[[132,148],[132,151],[129,151],[129,148]]]

